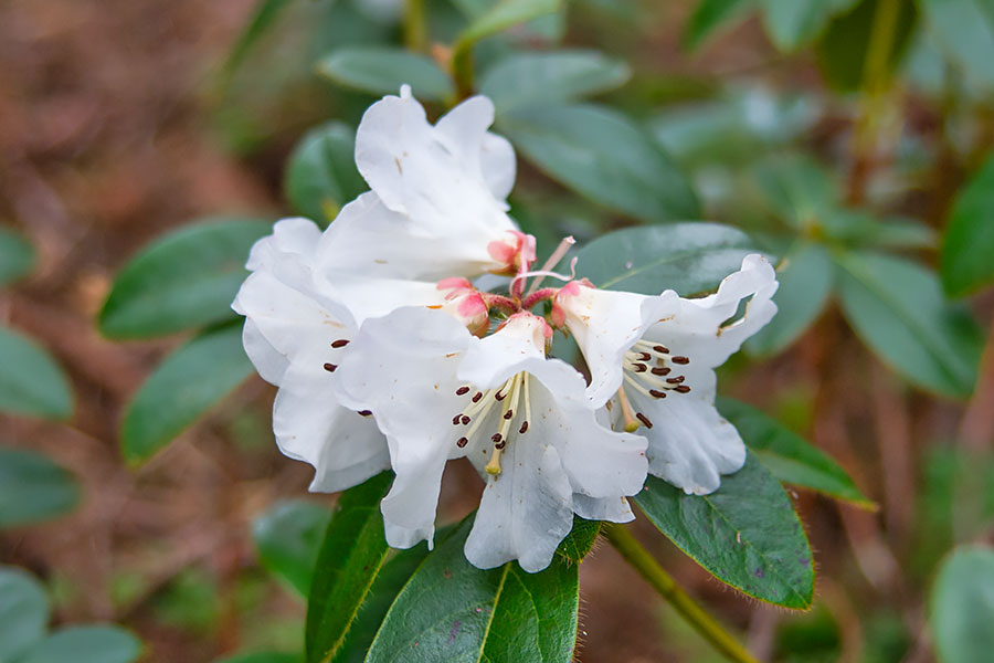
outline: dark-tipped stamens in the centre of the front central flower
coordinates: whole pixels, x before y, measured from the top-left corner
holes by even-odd
[[[528,432],[528,421],[531,419],[530,381],[530,376],[521,371],[512,375],[495,389],[479,391],[470,386],[456,389],[456,396],[469,397],[469,402],[463,411],[452,418],[453,425],[469,427],[466,433],[456,440],[456,446],[465,448],[482,430],[496,431],[490,435],[494,448],[486,465],[487,474],[494,476],[500,474],[500,454],[510,441],[509,436],[514,434],[514,431],[517,431],[519,435]],[[522,399],[524,404],[521,403]],[[519,404],[524,407],[519,408]],[[486,429],[484,429],[485,425],[487,425]],[[484,453],[486,453],[486,443],[484,443]]]

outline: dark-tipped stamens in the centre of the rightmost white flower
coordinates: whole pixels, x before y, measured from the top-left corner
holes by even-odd
[[[663,399],[670,391],[688,393],[687,377],[676,373],[678,367],[690,364],[688,357],[672,356],[669,348],[657,343],[638,340],[622,359],[624,383],[617,390],[617,400],[625,420],[625,430],[634,432],[639,425],[653,428],[653,422],[632,408],[625,386],[652,399]]]

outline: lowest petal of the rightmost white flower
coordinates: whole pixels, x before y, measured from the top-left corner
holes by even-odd
[[[652,429],[639,429],[648,440],[649,474],[688,494],[707,495],[718,490],[720,475],[745,463],[742,438],[709,400],[691,398],[692,391],[662,400],[628,396],[655,422]]]

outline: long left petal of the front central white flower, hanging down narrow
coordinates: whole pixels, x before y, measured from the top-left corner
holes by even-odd
[[[387,435],[396,478],[381,503],[388,541],[431,541],[445,462],[457,450],[455,366],[470,339],[455,318],[401,308],[367,320],[336,371],[340,401],[370,410]]]

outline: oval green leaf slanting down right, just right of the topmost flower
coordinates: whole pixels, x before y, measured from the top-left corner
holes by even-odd
[[[686,178],[624,115],[549,104],[512,110],[499,127],[536,166],[591,200],[649,223],[698,215]]]

